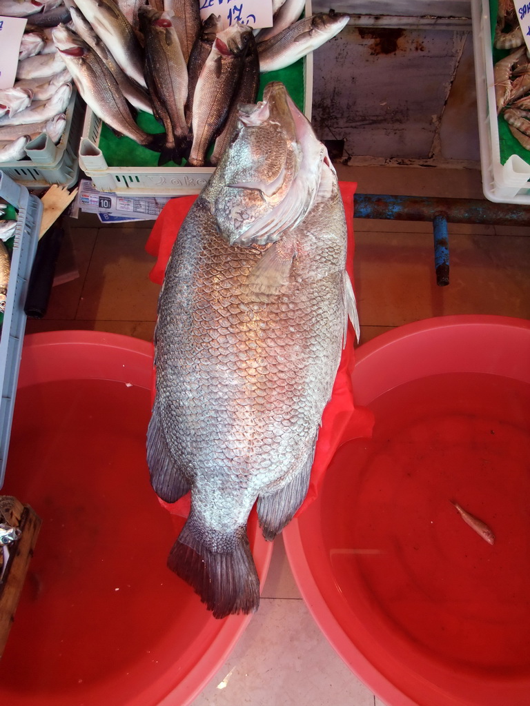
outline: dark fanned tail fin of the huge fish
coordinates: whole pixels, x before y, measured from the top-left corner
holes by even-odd
[[[259,578],[246,528],[216,533],[215,549],[206,534],[190,515],[170,551],[167,566],[192,586],[214,618],[256,611]]]

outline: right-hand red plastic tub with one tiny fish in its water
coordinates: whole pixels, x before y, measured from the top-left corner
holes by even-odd
[[[339,448],[284,530],[310,611],[389,706],[528,706],[530,322],[406,325],[361,346],[353,378],[373,438]]]

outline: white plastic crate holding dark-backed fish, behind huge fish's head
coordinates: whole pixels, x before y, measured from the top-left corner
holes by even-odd
[[[305,15],[311,14],[311,0],[306,0]],[[304,114],[311,119],[313,92],[313,57],[303,59]],[[261,81],[268,83],[267,74]],[[110,167],[100,150],[102,121],[90,108],[86,109],[85,123],[79,145],[79,165],[92,179],[98,191],[112,191],[129,196],[184,196],[202,191],[213,172],[213,167]]]

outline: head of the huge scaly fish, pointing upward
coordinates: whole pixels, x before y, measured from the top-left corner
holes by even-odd
[[[285,198],[302,159],[283,83],[269,83],[264,100],[238,107],[232,138],[204,190],[218,230],[230,244]]]

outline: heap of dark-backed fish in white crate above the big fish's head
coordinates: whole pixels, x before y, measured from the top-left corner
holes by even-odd
[[[223,30],[220,16],[201,22],[199,0],[69,0],[71,25],[54,42],[90,109],[117,135],[191,166],[217,164],[235,125],[237,104],[252,103],[259,73],[289,66],[346,25],[349,15],[298,20],[304,0],[276,0],[273,27],[242,23]],[[162,4],[163,3],[163,4]],[[298,20],[298,21],[297,21]],[[165,133],[143,131],[146,111]]]

